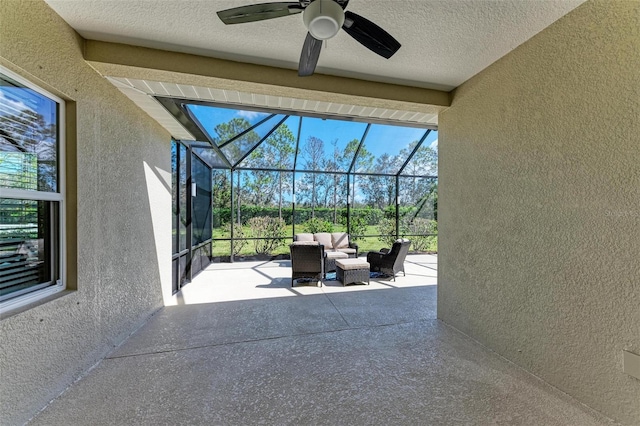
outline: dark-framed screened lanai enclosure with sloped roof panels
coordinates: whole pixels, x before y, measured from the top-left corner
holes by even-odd
[[[172,142],[174,291],[212,260],[286,256],[302,232],[437,250],[435,129],[158,101],[195,137]]]

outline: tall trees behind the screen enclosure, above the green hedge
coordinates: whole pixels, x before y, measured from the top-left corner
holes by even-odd
[[[260,169],[292,169],[295,135],[286,123],[283,123],[259,147],[256,147],[263,135],[255,130],[242,134],[250,127],[251,124],[246,119],[237,117],[229,122],[218,124],[213,135],[214,142],[221,146],[222,152],[232,163],[240,162],[242,168],[254,169],[236,170],[233,174],[234,202],[237,212],[235,221],[238,223],[242,220],[242,207],[246,205],[276,207],[278,216],[282,218],[283,209],[289,205],[287,200],[291,200],[293,196],[294,182],[291,172]],[[237,137],[239,134],[242,135]],[[234,137],[236,139],[225,144]],[[338,145],[337,139],[327,142],[316,136],[310,136],[304,143],[301,142],[296,169],[324,173],[297,173],[296,205],[310,209],[312,218],[316,215],[316,209],[330,208],[334,223],[338,223],[339,210],[341,206],[346,205],[348,195],[353,200],[352,205],[356,207],[385,209],[395,205],[394,176],[351,175],[351,182],[347,189],[346,175],[338,172],[349,169],[359,144],[358,139],[353,139],[342,148]],[[385,153],[378,157],[363,145],[357,153],[354,171],[377,174],[397,173],[417,144],[418,141],[412,141],[396,156]],[[437,152],[434,149],[421,146],[407,164],[404,174],[413,176],[400,177],[399,196],[402,204],[416,206],[425,203],[428,198],[433,202],[433,197],[437,196],[437,180],[415,176],[437,174]],[[214,170],[212,183],[214,208],[230,206],[231,174],[229,171]]]

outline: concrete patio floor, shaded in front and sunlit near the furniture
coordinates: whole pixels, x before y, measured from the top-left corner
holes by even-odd
[[[370,285],[214,264],[34,425],[600,425],[436,319],[435,255]]]

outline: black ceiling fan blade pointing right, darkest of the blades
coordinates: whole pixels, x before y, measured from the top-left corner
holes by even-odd
[[[353,12],[344,13],[342,29],[367,49],[389,59],[400,49],[401,44],[388,32]]]

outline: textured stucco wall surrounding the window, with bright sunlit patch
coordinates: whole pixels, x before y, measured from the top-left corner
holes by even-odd
[[[170,292],[170,135],[84,62],[40,0],[0,1],[0,63],[77,110],[77,290],[0,320],[0,423],[20,424]]]

